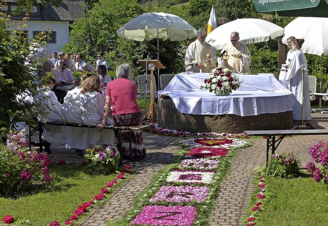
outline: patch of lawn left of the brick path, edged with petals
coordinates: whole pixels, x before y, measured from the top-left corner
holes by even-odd
[[[101,188],[116,179],[116,174],[90,175],[85,166],[67,163],[50,166],[52,180],[50,184],[39,188],[32,195],[26,195],[17,199],[0,198],[0,217],[13,215],[15,220],[28,219],[31,225],[49,225],[52,221],[58,221],[64,225],[64,221],[74,213],[83,202],[93,200],[100,193]],[[129,178],[129,176],[127,175]],[[119,186],[117,183],[116,186]],[[106,194],[108,199],[113,189]],[[97,202],[97,205],[104,201]],[[83,218],[83,214],[79,218]]]

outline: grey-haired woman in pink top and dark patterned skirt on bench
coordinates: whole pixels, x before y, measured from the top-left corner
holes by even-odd
[[[137,85],[131,81],[130,66],[119,65],[116,68],[117,79],[111,81],[106,87],[106,102],[103,122],[97,126],[98,131],[103,131],[106,120],[113,106],[113,122],[115,126],[137,126],[141,124],[141,110],[137,103]],[[141,158],[146,155],[145,143],[141,131],[134,131],[132,139],[132,157]],[[122,141],[122,154],[129,156],[129,143]]]

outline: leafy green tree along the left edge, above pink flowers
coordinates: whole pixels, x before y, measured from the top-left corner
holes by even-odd
[[[34,104],[24,102],[25,95],[37,92],[35,70],[40,58],[37,51],[41,38],[26,39],[24,24],[16,24],[0,14],[0,128],[6,131],[15,122],[29,121],[26,112],[32,112]],[[8,32],[8,31],[11,32]],[[43,36],[44,37],[44,36]],[[39,43],[39,44],[38,44]],[[6,134],[6,133],[4,133]]]

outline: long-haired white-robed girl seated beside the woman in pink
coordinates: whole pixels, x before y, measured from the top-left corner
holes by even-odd
[[[98,75],[91,75],[84,83],[80,92],[80,109],[85,125],[97,126],[103,119],[105,100],[101,92],[101,81]],[[106,118],[104,125],[113,124],[112,119]],[[101,133],[94,130],[92,142],[113,145],[116,142],[115,132],[105,130]]]

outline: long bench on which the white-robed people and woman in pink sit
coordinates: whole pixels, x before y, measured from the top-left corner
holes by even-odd
[[[42,133],[45,129],[46,125],[54,125],[54,126],[67,126],[67,127],[80,127],[80,128],[96,128],[96,126],[88,126],[84,124],[71,124],[71,123],[66,123],[66,122],[61,122],[61,121],[37,121],[36,126],[29,126],[29,148],[31,150],[31,136],[36,135],[38,132],[39,135],[39,151],[43,152],[43,146],[42,146]],[[108,125],[105,126],[104,129],[109,129],[109,130],[114,130],[117,141],[118,141],[118,150],[121,153],[121,157],[126,157],[124,156],[124,153],[121,151],[122,150],[122,143],[124,143],[124,139],[126,138],[130,144],[129,146],[129,157],[132,159],[132,143],[131,143],[131,135],[133,131],[138,131],[138,130],[144,130],[149,128],[148,125],[140,125],[140,126],[113,126],[113,125]]]

